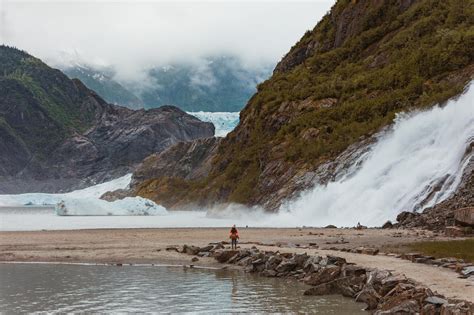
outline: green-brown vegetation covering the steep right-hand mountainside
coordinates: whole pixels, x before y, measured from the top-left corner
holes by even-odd
[[[211,175],[217,189],[230,184],[231,201],[251,202],[262,193],[256,189],[260,166],[278,158],[271,150],[275,145],[288,144],[287,162],[317,165],[390,124],[396,113],[426,108],[462,91],[465,80],[445,78],[472,64],[472,2],[419,1],[401,15],[392,2],[367,12],[358,21],[362,31],[339,47],[324,48],[334,41],[337,28],[330,16],[303,37],[292,50],[311,41],[322,48],[259,86],[243,111],[243,120],[252,120],[240,126],[250,129],[249,138],[237,132],[221,148],[216,164],[232,162]],[[354,4],[339,1],[335,10],[349,6]],[[327,98],[337,104],[296,109],[303,101]],[[296,106],[281,111],[285,102]],[[291,119],[272,128],[275,115]],[[302,137],[309,128],[321,131],[311,141]]]

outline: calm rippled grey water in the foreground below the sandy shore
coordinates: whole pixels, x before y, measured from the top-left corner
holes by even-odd
[[[367,314],[296,281],[174,266],[0,264],[0,308],[29,312]]]

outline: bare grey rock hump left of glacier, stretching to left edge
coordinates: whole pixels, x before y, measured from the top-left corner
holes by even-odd
[[[16,178],[2,181],[0,191],[59,192],[87,187],[133,172],[147,156],[174,144],[213,135],[211,123],[174,106],[135,111],[107,105],[91,129],[67,138],[46,161],[30,163]]]

